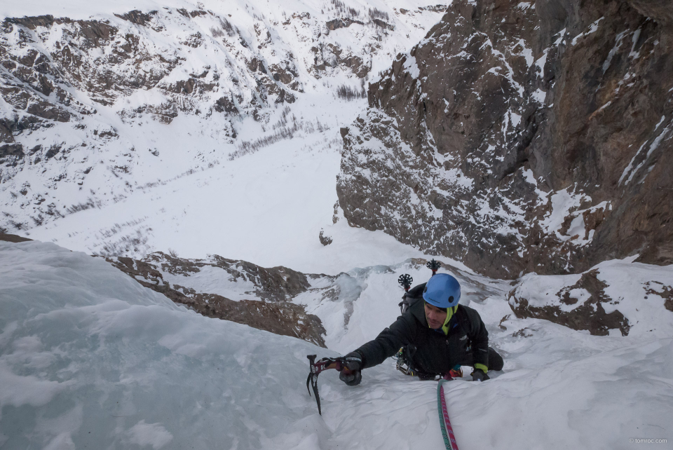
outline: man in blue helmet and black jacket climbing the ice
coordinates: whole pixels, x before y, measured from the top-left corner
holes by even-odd
[[[459,305],[461,285],[447,273],[409,290],[407,311],[376,339],[346,355],[339,379],[348,386],[362,380],[362,369],[381,364],[405,348],[409,369],[420,379],[462,376],[461,366],[472,366],[472,379],[486,381],[487,372],[503,369],[503,357],[489,347],[489,333],[479,313]]]

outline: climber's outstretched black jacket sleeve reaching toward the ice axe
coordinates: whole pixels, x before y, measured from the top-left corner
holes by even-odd
[[[376,339],[355,350],[362,355],[362,368],[381,364],[387,357],[395,355],[397,350],[406,346],[414,335],[415,322],[412,314],[407,311],[404,315],[400,315],[393,325],[379,333]]]

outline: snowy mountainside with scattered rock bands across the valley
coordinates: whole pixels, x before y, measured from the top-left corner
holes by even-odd
[[[3,6],[1,229],[26,232],[142,196],[292,137],[327,137],[337,151],[367,83],[445,9],[134,5]]]

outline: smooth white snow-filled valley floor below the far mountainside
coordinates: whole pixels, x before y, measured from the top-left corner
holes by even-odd
[[[140,257],[170,248],[180,257],[219,254],[304,273],[337,274],[354,266],[422,257],[422,252],[410,250],[382,231],[351,228],[341,210],[339,221],[333,224],[334,185],[341,158],[337,118],[355,114],[358,106],[341,104],[327,112],[313,100],[302,104],[304,118],[315,112],[322,123],[332,127],[328,132],[276,142],[26,234],[93,254],[113,251]],[[177,168],[172,172],[178,172]],[[321,229],[334,239],[332,245],[320,243]],[[131,240],[140,242],[129,245]]]

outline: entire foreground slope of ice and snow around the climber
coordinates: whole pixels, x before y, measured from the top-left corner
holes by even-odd
[[[491,381],[447,386],[461,449],[630,449],[632,438],[669,438],[673,327],[623,337],[500,322],[508,285],[456,274],[505,356]],[[394,318],[398,275],[367,278],[348,325],[358,335],[341,339],[343,351]],[[381,323],[367,322],[376,313]],[[326,372],[320,417],[304,384],[308,353],[335,354],[186,311],[102,259],[0,243],[4,449],[442,448],[435,383],[391,360],[355,388]]]

